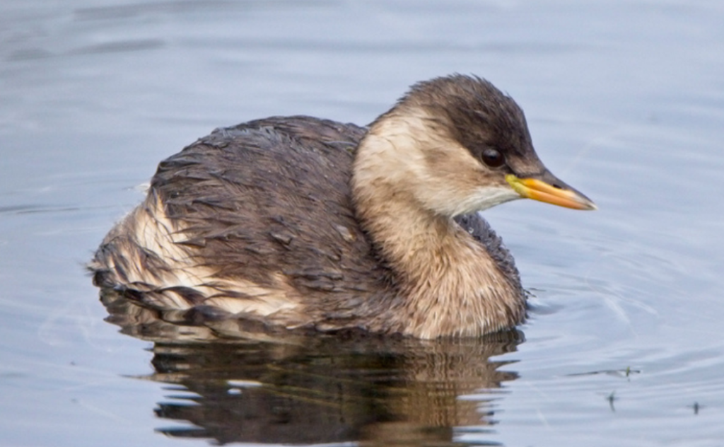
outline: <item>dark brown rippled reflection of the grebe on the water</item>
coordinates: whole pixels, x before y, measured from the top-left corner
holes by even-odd
[[[475,445],[495,421],[492,401],[513,372],[490,356],[514,351],[522,334],[484,340],[417,341],[249,333],[236,321],[172,324],[104,292],[109,321],[153,341],[150,377],[173,386],[156,414],[192,427],[159,430],[216,443]],[[164,315],[171,319],[172,315]]]

